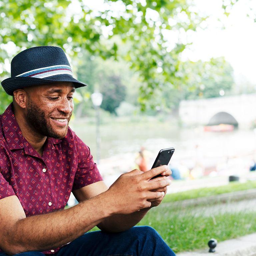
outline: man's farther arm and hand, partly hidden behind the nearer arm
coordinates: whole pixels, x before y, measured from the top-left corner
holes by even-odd
[[[141,174],[141,171],[137,170],[138,174]],[[166,173],[164,173],[166,176],[169,176],[171,173],[170,170],[168,170]],[[163,179],[166,179],[166,176],[163,177],[158,177],[155,179],[155,181],[160,181]],[[90,184],[88,186],[85,186],[83,188],[77,189],[73,191],[74,196],[79,202],[82,202],[88,198],[92,198],[96,195],[99,195],[100,193],[103,193],[108,190],[108,187],[103,181],[99,181],[93,184]],[[161,203],[163,200],[164,195],[167,192],[167,186],[166,187],[160,187],[157,189],[159,192],[164,192],[162,196],[160,196],[157,199],[149,200],[152,202],[151,207],[157,206]],[[111,200],[115,200],[115,198],[110,198],[109,199],[109,204],[111,205]],[[110,217],[107,217],[103,219],[97,227],[101,230],[104,231],[109,231],[109,232],[121,232],[124,230],[127,230],[134,225],[136,225],[138,222],[141,221],[141,219],[145,216],[145,214],[149,211],[148,208],[144,208],[140,211],[136,211],[130,214],[116,214]]]

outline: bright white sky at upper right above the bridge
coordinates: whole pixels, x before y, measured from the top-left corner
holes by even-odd
[[[199,10],[209,15],[208,26],[192,35],[193,45],[184,58],[207,60],[224,56],[232,65],[236,80],[246,79],[256,84],[256,22],[247,17],[248,3],[256,10],[256,1],[239,0],[226,17],[222,0],[197,0]]]

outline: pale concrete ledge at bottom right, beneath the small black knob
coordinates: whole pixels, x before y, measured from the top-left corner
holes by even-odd
[[[177,256],[256,256],[256,233],[220,242],[214,253],[209,253],[208,250],[182,252]]]

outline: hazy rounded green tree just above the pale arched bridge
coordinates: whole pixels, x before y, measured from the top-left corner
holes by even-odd
[[[162,90],[162,105],[167,108],[177,108],[181,100],[219,97],[221,90],[231,93],[234,85],[233,68],[223,57],[206,62],[181,62],[180,65],[183,79],[176,79],[175,87]]]

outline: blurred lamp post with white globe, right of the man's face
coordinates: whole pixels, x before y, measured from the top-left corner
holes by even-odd
[[[96,150],[97,150],[97,163],[100,162],[100,105],[102,103],[102,94],[100,92],[94,92],[91,95],[92,104],[96,109]]]

